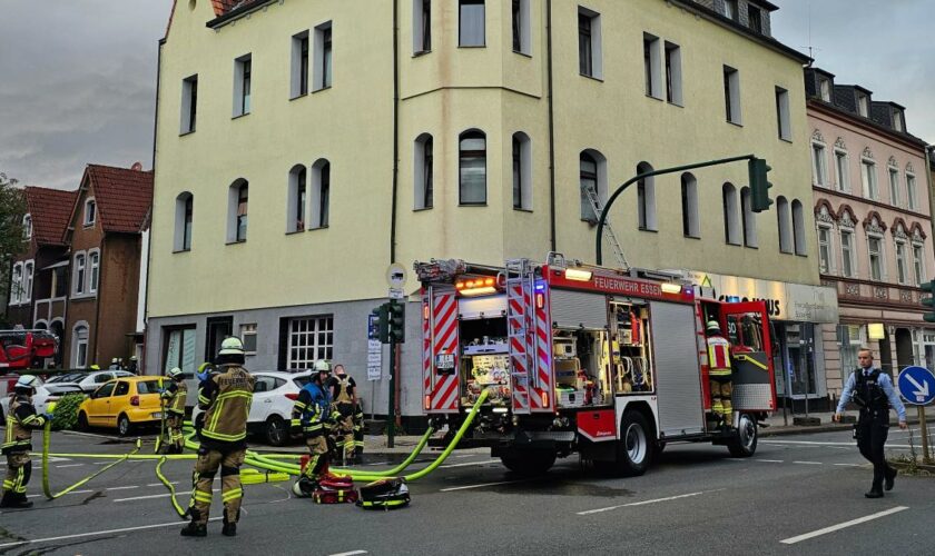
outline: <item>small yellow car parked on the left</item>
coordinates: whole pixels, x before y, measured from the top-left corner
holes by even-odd
[[[117,428],[126,436],[137,425],[151,425],[163,418],[159,377],[121,377],[102,384],[78,407],[78,429]]]

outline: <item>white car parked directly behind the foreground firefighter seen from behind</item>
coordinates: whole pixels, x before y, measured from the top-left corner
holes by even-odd
[[[312,380],[312,371],[258,370],[250,375],[256,385],[247,430],[259,434],[270,446],[283,446],[289,440],[293,403],[298,398],[299,390]],[[195,423],[201,413],[195,406],[191,421]]]

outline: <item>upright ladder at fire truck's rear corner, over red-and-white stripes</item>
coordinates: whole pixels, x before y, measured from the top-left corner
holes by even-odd
[[[529,259],[506,261],[506,334],[510,344],[510,390],[514,414],[530,413],[531,388],[538,376],[535,355],[535,268]]]

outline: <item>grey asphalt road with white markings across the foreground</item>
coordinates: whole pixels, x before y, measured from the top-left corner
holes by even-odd
[[[908,450],[907,438],[894,428],[889,451]],[[130,448],[100,436],[52,438],[59,453]],[[435,455],[423,454],[412,469]],[[52,489],[105,463],[53,460]],[[235,538],[222,536],[216,522],[207,538],[180,537],[184,524],[154,466],[127,461],[47,502],[37,458],[29,485],[36,505],[0,512],[0,554],[935,553],[935,478],[900,476],[885,498],[864,498],[870,468],[846,431],[764,438],[748,459],[731,458],[724,447],[669,446],[636,478],[600,476],[568,458],[529,480],[484,453],[455,451],[411,484],[412,505],[395,512],[317,506],[294,499],[289,483],[249,485]],[[169,463],[164,471],[186,504],[191,463]],[[217,518],[219,493],[215,498]]]

